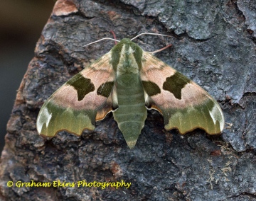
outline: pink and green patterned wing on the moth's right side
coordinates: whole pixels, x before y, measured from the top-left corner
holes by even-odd
[[[140,77],[148,105],[162,113],[166,130],[177,128],[181,134],[196,128],[208,134],[223,130],[223,112],[203,88],[149,52],[142,57]]]

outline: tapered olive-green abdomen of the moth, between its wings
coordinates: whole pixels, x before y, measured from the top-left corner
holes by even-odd
[[[142,83],[138,74],[132,76],[134,77],[129,82],[127,76],[118,77],[116,82],[118,109],[113,113],[114,120],[117,121],[119,130],[130,149],[137,142],[147,114]]]

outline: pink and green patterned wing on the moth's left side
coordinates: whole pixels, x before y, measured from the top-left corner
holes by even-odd
[[[115,73],[110,52],[73,76],[43,104],[36,122],[39,134],[53,137],[60,130],[82,134],[93,130],[112,110]]]

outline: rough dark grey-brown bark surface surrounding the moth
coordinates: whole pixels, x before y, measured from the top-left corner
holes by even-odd
[[[36,45],[18,90],[1,154],[0,200],[256,200],[256,7],[254,0],[60,0]],[[59,86],[105,54],[113,42],[154,32],[136,42],[147,51],[172,43],[156,57],[215,97],[226,127],[220,136],[202,130],[166,132],[149,111],[134,149],[112,114],[82,137],[36,132],[41,105]],[[13,187],[7,182],[14,181]],[[36,188],[22,182],[117,182],[129,188]]]

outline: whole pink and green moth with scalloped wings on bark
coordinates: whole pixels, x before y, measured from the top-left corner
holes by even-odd
[[[185,134],[201,128],[208,134],[220,133],[224,116],[218,103],[132,40],[122,39],[55,91],[38,114],[38,133],[53,137],[66,130],[81,135],[85,129],[94,130],[95,122],[112,111],[132,149],[149,109],[164,116],[166,130],[176,128]]]

